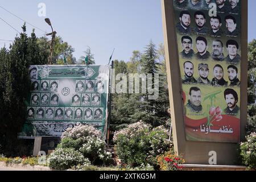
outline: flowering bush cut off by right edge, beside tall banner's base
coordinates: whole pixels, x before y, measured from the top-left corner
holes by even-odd
[[[246,142],[240,144],[242,163],[256,169],[256,133],[246,137]]]

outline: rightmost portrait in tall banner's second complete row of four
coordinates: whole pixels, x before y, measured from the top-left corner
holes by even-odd
[[[226,42],[226,49],[229,53],[229,55],[226,57],[226,62],[228,64],[240,63],[241,56],[238,55],[239,46],[236,40],[228,40],[228,42]]]

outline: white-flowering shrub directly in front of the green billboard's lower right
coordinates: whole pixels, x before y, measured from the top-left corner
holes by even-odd
[[[92,164],[106,164],[112,159],[112,154],[106,150],[101,131],[90,125],[79,125],[65,131],[58,148],[74,148]]]

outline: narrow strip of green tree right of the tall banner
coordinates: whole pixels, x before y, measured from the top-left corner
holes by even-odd
[[[247,134],[256,132],[256,40],[248,45],[248,115]]]

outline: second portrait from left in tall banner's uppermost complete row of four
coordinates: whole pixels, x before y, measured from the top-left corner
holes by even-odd
[[[205,14],[202,11],[196,11],[194,14],[195,22],[196,22],[196,27],[193,28],[193,32],[195,34],[207,34],[209,32],[209,29],[205,27],[206,23],[206,17]]]

